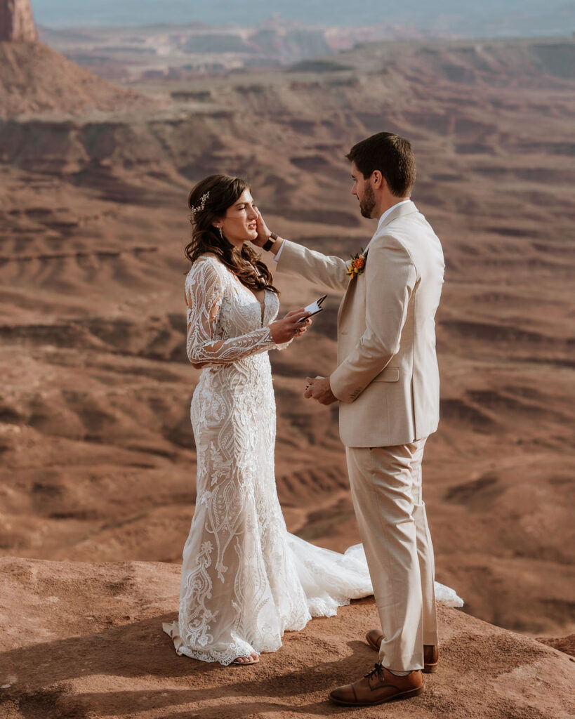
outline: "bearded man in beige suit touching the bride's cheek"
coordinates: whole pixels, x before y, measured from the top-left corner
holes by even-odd
[[[261,219],[257,244],[274,253],[280,270],[345,293],[338,366],[329,377],[308,377],[305,397],[324,405],[339,400],[351,495],[382,626],[367,634],[379,651],[375,668],[330,698],[367,706],[420,694],[422,670],[435,672],[438,664],[421,462],[439,418],[434,317],[444,262],[438,237],[410,200],[410,142],[380,132],[354,145],[347,158],[351,193],[362,215],[377,219],[355,262],[281,239]]]

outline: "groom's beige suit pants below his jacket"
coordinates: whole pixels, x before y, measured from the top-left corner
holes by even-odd
[[[423,644],[438,644],[433,545],[421,487],[426,439],[346,447],[351,496],[372,577],[383,641],[380,661],[423,669]]]

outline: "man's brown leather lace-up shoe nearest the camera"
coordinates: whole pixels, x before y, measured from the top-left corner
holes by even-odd
[[[329,698],[336,704],[348,707],[370,707],[392,699],[416,697],[423,692],[423,677],[420,669],[411,672],[407,677],[396,677],[381,664],[376,664],[363,679],[353,684],[338,687],[329,693]]]

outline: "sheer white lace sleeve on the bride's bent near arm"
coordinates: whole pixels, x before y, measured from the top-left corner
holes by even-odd
[[[225,365],[275,347],[269,327],[238,337],[218,339],[215,327],[223,298],[221,277],[213,261],[196,262],[185,280],[188,303],[186,351],[193,365]]]

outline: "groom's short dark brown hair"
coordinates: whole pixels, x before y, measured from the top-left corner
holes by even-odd
[[[364,178],[380,170],[392,195],[409,195],[415,183],[415,157],[411,143],[394,132],[378,132],[362,139],[346,155]]]

